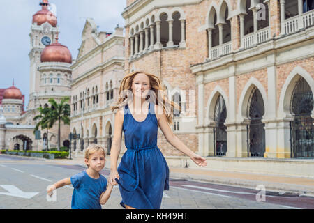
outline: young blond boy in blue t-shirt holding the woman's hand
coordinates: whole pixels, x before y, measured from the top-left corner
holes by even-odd
[[[113,185],[100,171],[105,167],[105,150],[98,145],[91,145],[85,151],[87,169],[80,174],[54,183],[48,188],[47,194],[52,196],[55,189],[72,184],[72,209],[101,209],[110,197]],[[107,188],[107,189],[106,189]]]

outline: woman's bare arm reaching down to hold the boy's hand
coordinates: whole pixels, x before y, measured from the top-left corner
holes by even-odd
[[[115,178],[119,180],[119,174],[117,171],[118,157],[121,151],[121,137],[122,137],[122,125],[124,123],[124,110],[119,109],[114,118],[114,137],[112,139],[112,146],[110,151],[110,176],[109,180],[112,185],[117,185]]]

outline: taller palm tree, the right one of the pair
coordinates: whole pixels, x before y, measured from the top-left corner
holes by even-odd
[[[58,104],[53,98],[50,98],[48,102],[51,104],[52,122],[58,121],[58,151],[60,151],[60,137],[61,137],[61,121],[65,125],[70,125],[70,105],[68,102],[70,98],[62,98],[60,104]]]

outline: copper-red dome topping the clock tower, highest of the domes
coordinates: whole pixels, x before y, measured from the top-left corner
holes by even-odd
[[[57,17],[48,10],[49,2],[48,0],[43,0],[39,4],[42,6],[42,9],[33,15],[33,24],[37,23],[38,26],[44,24],[45,22],[49,22],[53,27],[57,26]]]

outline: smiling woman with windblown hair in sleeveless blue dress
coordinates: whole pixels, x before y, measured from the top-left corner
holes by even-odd
[[[119,91],[119,101],[112,107],[118,112],[110,155],[110,181],[119,184],[120,204],[124,208],[159,209],[163,190],[169,190],[169,168],[157,147],[158,126],[174,148],[199,166],[204,167],[207,162],[173,134],[169,124],[174,108],[179,107],[163,95],[158,77],[141,71],[130,73],[122,80]],[[127,151],[117,168],[122,131]]]

